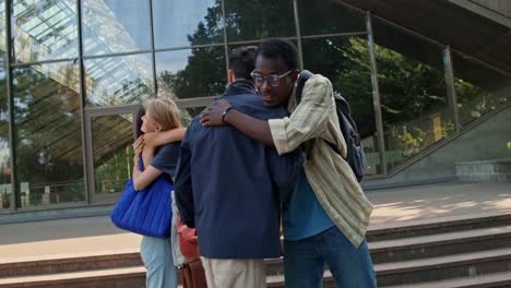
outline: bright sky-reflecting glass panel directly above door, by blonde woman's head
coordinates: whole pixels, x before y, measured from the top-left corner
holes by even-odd
[[[150,53],[95,58],[84,65],[90,107],[139,104],[154,96]]]

